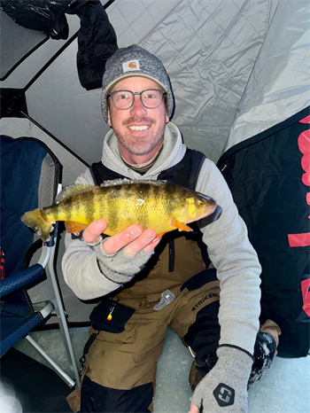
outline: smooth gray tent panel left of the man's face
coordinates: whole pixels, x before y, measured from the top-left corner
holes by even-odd
[[[57,58],[27,90],[29,115],[82,160],[101,158],[106,125],[101,109],[101,91],[86,91],[76,74],[77,46],[66,49],[66,59]]]

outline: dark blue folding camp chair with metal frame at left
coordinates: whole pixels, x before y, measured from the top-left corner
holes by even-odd
[[[0,247],[5,261],[5,275],[0,280],[0,357],[19,339],[25,338],[68,386],[80,386],[54,270],[58,225],[55,225],[49,243],[43,243],[20,220],[26,211],[47,207],[55,201],[61,189],[62,167],[49,148],[35,138],[0,136],[0,154]],[[33,263],[31,259],[38,249],[41,251],[40,258]],[[45,269],[48,271],[45,272]],[[50,286],[51,299],[33,303],[27,290],[45,279]],[[75,381],[28,334],[55,314]]]

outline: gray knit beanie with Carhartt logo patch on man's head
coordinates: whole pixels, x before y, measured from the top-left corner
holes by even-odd
[[[167,114],[171,119],[174,114],[174,95],[165,67],[159,58],[156,58],[142,47],[133,44],[115,51],[111,58],[106,60],[101,98],[105,121],[108,121],[106,96],[120,79],[135,75],[147,77],[151,81],[157,82],[167,92]]]

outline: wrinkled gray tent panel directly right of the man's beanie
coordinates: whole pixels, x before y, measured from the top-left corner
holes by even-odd
[[[141,43],[166,64],[173,121],[186,144],[216,161],[270,19],[270,2],[182,1]]]

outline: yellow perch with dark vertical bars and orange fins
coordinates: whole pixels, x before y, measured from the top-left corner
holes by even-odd
[[[216,201],[182,186],[164,181],[106,181],[103,186],[74,184],[60,193],[58,203],[34,209],[21,220],[43,239],[50,239],[52,224],[66,222],[67,232],[84,230],[103,218],[106,235],[133,223],[152,228],[161,237],[171,230],[191,231],[187,223],[212,214]]]

